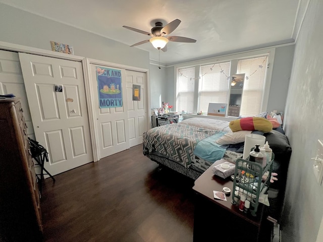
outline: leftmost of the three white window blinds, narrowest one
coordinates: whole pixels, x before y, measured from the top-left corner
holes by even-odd
[[[192,113],[194,109],[195,68],[179,70],[177,101],[179,111]]]

